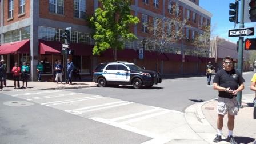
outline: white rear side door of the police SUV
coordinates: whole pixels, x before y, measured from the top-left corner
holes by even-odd
[[[109,64],[103,70],[103,75],[105,76],[107,81],[116,81],[117,74],[117,64]]]

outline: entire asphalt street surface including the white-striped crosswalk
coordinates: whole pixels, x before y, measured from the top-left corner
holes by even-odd
[[[244,73],[243,94],[253,93],[253,74]],[[183,111],[217,94],[206,77],[165,79],[139,90],[118,86],[1,93],[0,143],[142,143],[166,134],[193,138],[189,127],[176,129],[186,124]]]

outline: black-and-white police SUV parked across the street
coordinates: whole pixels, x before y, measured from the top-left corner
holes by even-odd
[[[134,63],[110,62],[101,63],[96,67],[93,73],[93,81],[98,83],[99,87],[133,85],[135,89],[141,89],[143,85],[151,87],[154,84],[161,83],[162,78],[159,73],[142,69]]]

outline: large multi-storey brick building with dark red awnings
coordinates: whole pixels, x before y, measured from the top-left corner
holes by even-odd
[[[147,69],[160,71],[162,74],[198,74],[203,73],[209,58],[193,55],[192,41],[196,34],[203,31],[200,26],[210,25],[212,14],[199,7],[199,0],[132,0],[131,14],[141,22],[152,18],[170,18],[170,11],[176,6],[182,18],[189,19],[192,26],[183,29],[186,39],[166,47],[165,53],[156,57],[152,47],[146,47],[143,60],[138,59],[138,47],[147,34],[142,23],[131,27],[138,41],[125,43],[126,49],[118,51],[119,61],[137,63]],[[72,43],[69,55],[74,65],[84,76],[90,76],[94,67],[100,62],[113,61],[110,50],[101,56],[92,55],[94,41],[92,30],[87,26],[86,18],[94,14],[100,6],[98,0],[0,0],[0,55],[7,62],[8,72],[14,62],[22,65],[27,61],[30,65],[31,80],[37,78],[35,66],[38,61],[45,63],[45,80],[53,75],[55,59],[63,61],[61,53],[66,27],[71,27]],[[207,53],[207,51],[206,51]],[[209,54],[206,54],[209,57]],[[159,62],[158,62],[159,61]],[[48,77],[47,77],[48,76]]]

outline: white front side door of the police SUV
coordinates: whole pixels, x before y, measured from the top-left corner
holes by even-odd
[[[117,67],[117,81],[129,82],[130,81],[130,70],[123,64],[118,64]],[[126,70],[125,70],[126,69]]]

